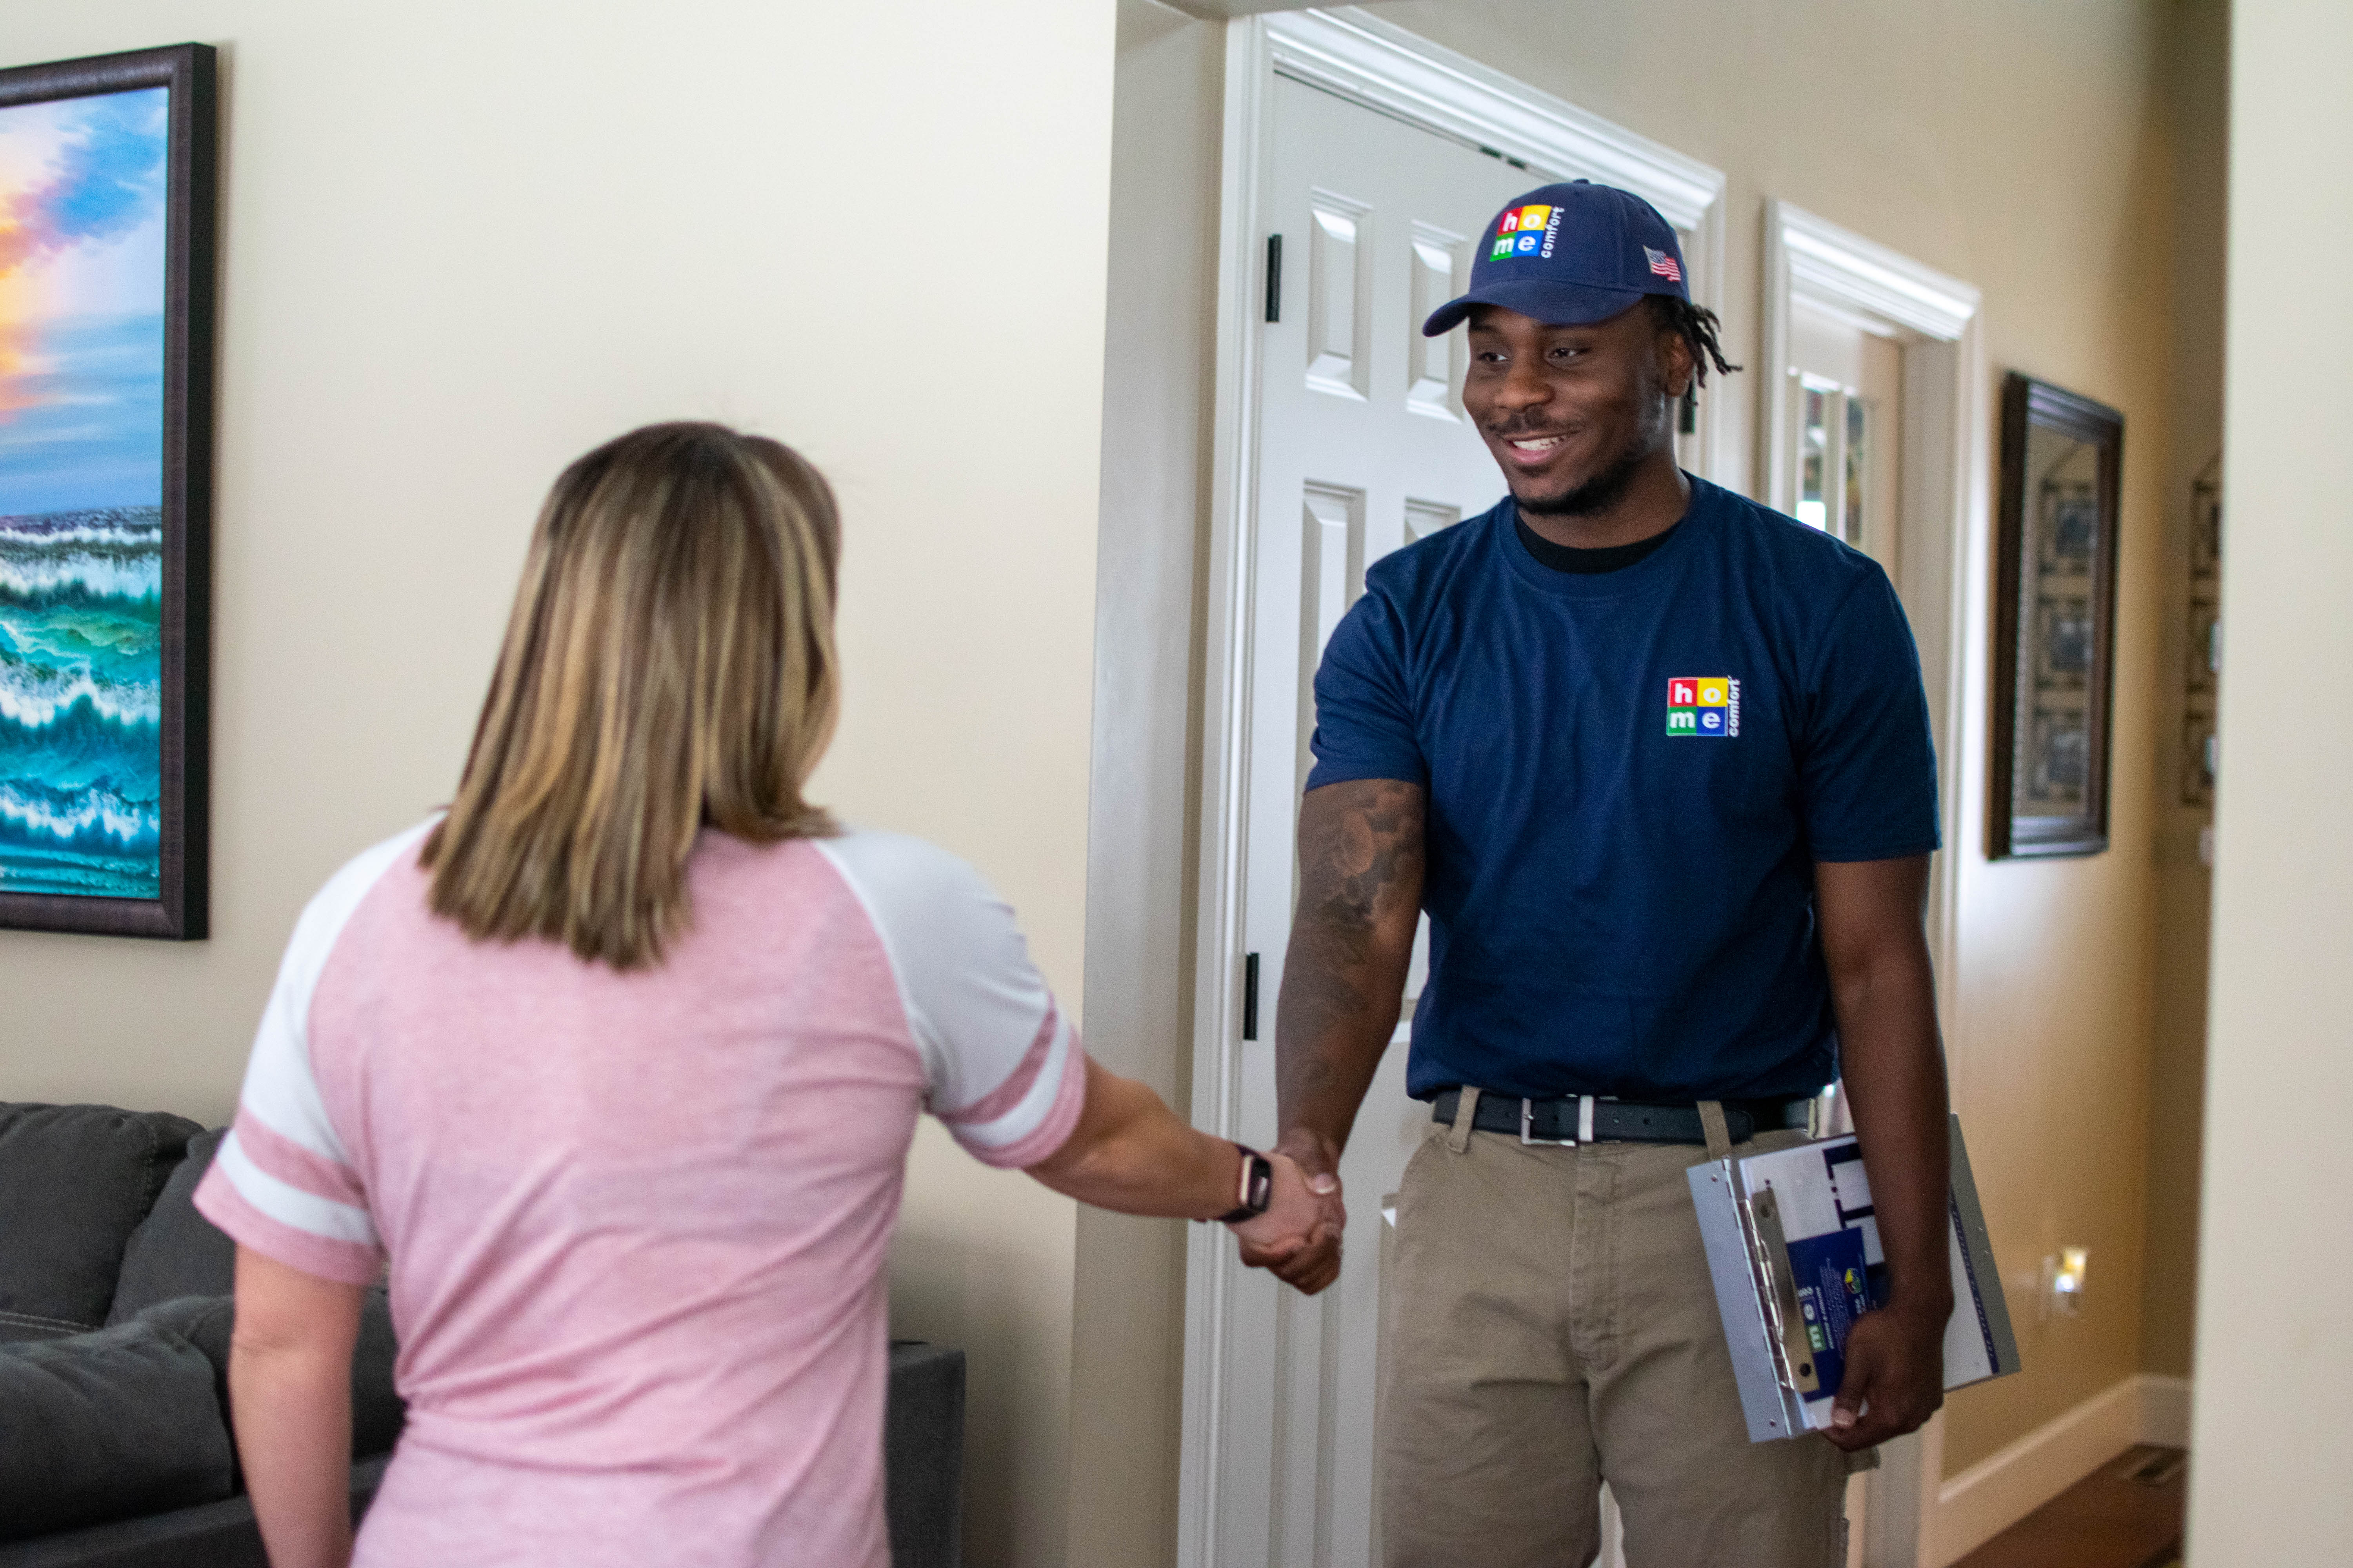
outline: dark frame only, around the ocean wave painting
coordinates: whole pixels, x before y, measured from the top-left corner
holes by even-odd
[[[0,108],[167,89],[160,856],[155,898],[12,893],[0,929],[200,940],[209,917],[212,390],[219,87],[209,45],[0,71]],[[7,510],[0,505],[0,510]]]

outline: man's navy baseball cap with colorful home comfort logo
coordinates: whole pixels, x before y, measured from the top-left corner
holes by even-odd
[[[1548,327],[1607,322],[1645,294],[1689,301],[1675,226],[1633,190],[1572,181],[1513,197],[1471,259],[1471,292],[1431,310],[1435,339],[1473,306],[1504,306]]]

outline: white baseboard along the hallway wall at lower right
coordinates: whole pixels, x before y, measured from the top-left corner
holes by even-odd
[[[2188,1378],[2134,1373],[1939,1486],[1925,1559],[1944,1568],[1974,1552],[2134,1443],[2188,1441]]]

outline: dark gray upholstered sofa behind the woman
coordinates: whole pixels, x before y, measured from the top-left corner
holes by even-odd
[[[228,1436],[235,1248],[191,1204],[221,1133],[0,1103],[0,1568],[264,1568]],[[393,1321],[353,1356],[353,1512],[400,1436]],[[960,1561],[965,1354],[892,1345],[896,1568]]]

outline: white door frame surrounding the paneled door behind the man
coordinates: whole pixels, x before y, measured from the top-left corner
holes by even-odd
[[[1195,903],[1193,1121],[1231,1135],[1240,1086],[1242,1025],[1242,804],[1249,778],[1249,625],[1259,487],[1259,336],[1264,315],[1264,219],[1275,75],[1311,82],[1529,172],[1529,183],[1595,179],[1642,195],[1689,235],[1692,299],[1718,308],[1725,275],[1725,176],[1708,165],[1609,125],[1431,45],[1358,7],[1278,12],[1226,24],[1224,174],[1219,190],[1217,411],[1212,428],[1207,668],[1202,679],[1200,891]],[[1706,477],[1729,482],[1722,421],[1701,400],[1697,451]],[[1261,997],[1261,1037],[1273,1037],[1273,997]],[[1360,1194],[1369,1201],[1377,1194]],[[1214,1227],[1193,1227],[1186,1248],[1184,1448],[1176,1561],[1212,1568],[1219,1474],[1228,1455],[1224,1366],[1240,1262]],[[1365,1267],[1362,1262],[1358,1267]]]

